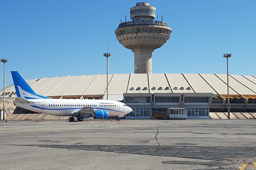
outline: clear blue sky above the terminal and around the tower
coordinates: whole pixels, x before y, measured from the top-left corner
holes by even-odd
[[[130,21],[137,0],[1,0],[0,58],[25,79],[68,75],[134,73],[134,53],[114,31],[120,19]],[[138,1],[143,2],[143,0]],[[229,73],[255,75],[255,0],[147,0],[171,37],[152,53],[153,73]],[[3,63],[0,63],[3,89]]]

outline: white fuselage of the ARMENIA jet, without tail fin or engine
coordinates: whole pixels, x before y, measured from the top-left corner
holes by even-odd
[[[92,107],[94,111],[108,111],[109,116],[120,116],[132,110],[122,102],[112,100],[86,99],[29,99],[29,103],[15,102],[15,105],[33,112],[56,116],[74,116],[83,107]]]

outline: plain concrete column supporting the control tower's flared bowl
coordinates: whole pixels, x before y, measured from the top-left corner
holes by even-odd
[[[134,73],[152,73],[152,52],[154,49],[133,49]]]

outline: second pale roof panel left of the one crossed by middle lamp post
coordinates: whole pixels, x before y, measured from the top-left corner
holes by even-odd
[[[51,91],[48,96],[63,96],[81,76],[69,76],[56,89]]]

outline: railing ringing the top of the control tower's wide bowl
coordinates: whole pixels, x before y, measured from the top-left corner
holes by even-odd
[[[161,25],[165,27],[169,27],[167,23],[162,22],[162,21],[153,21],[153,20],[135,20],[135,21],[128,21],[119,24],[118,28],[125,27],[125,26],[130,26],[130,25]]]

